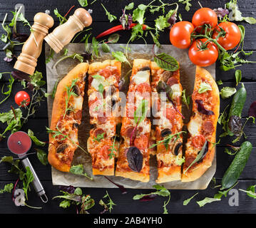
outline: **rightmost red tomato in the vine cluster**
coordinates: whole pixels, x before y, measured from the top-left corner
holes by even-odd
[[[225,36],[220,36],[217,38],[217,34],[221,31],[220,28],[222,28],[226,33]],[[223,48],[230,50],[235,48],[235,46],[237,46],[237,44],[240,42],[241,32],[235,23],[225,21],[217,26],[217,29],[213,33],[213,38],[217,38],[217,42],[220,43]]]

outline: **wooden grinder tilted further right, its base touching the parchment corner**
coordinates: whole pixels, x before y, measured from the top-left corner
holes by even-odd
[[[92,21],[91,14],[86,9],[78,8],[68,18],[68,21],[55,28],[44,40],[58,53],[63,46],[66,46],[71,41],[76,33],[82,31],[84,27],[90,26]]]

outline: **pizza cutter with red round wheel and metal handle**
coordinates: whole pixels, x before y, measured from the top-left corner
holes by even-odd
[[[11,134],[7,140],[9,150],[11,150],[11,152],[13,152],[15,155],[18,155],[24,169],[26,169],[26,167],[30,168],[32,174],[34,175],[34,180],[32,182],[34,190],[41,198],[41,201],[46,203],[48,202],[46,192],[44,191],[43,185],[41,184],[39,177],[36,175],[31,162],[29,161],[29,157],[26,156],[26,152],[30,150],[31,144],[31,138],[23,131],[17,131],[16,133]]]

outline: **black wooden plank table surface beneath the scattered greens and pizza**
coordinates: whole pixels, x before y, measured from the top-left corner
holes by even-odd
[[[93,9],[93,24],[92,24],[92,33],[93,36],[97,36],[102,31],[105,31],[107,28],[111,28],[111,26],[118,25],[118,21],[109,23],[105,11],[103,10],[101,3],[106,6],[108,11],[116,16],[121,16],[121,9],[124,6],[128,5],[130,1],[128,0],[108,0],[101,1],[97,0],[92,5],[90,3],[91,0],[88,1],[89,6],[86,9]],[[143,3],[148,4],[150,1],[135,1],[136,5]],[[156,1],[157,2],[157,1]],[[41,1],[19,1],[19,3],[24,4],[25,6],[25,16],[28,21],[33,24],[34,15],[39,11],[45,11],[46,9],[51,11],[51,16],[56,21],[55,26],[58,25],[58,19],[53,14],[54,9],[58,9],[61,15],[65,15],[68,9],[71,6],[76,6],[70,12],[73,14],[74,9],[79,7],[78,1],[76,0],[41,0]],[[0,2],[0,21],[3,21],[6,13],[9,13],[7,18],[7,22],[11,20],[10,11],[14,11],[14,6],[17,4],[17,1],[14,0],[1,0]],[[193,6],[190,11],[185,11],[185,7],[183,4],[180,4],[179,13],[182,15],[183,20],[191,21],[193,13],[200,8],[198,1],[192,1]],[[212,1],[212,0],[201,0],[200,4],[205,7],[210,7],[211,9],[215,9],[218,7],[224,7],[225,1]],[[240,11],[242,11],[243,16],[255,16],[256,12],[256,2],[253,0],[243,0],[239,3]],[[154,24],[155,15],[146,15],[147,24]],[[255,51],[256,50],[256,25],[250,25],[247,23],[240,23],[245,26],[245,51]],[[54,27],[55,27],[54,26]],[[21,23],[18,23],[17,29],[20,33],[26,32],[29,33],[29,28],[24,28]],[[53,28],[51,28],[52,31]],[[3,29],[0,28],[1,33],[4,33]],[[121,39],[118,41],[120,43],[126,43],[128,38],[130,37],[129,31],[124,31],[121,33]],[[152,43],[150,38],[146,38],[148,43]],[[135,41],[134,43],[144,43],[143,40]],[[160,35],[160,43],[162,44],[170,44],[168,30]],[[0,44],[0,72],[12,71],[14,66],[14,61],[11,63],[6,63],[3,61],[5,56],[2,48],[4,47],[4,43]],[[43,46],[44,50],[44,46]],[[21,51],[21,47],[16,48],[16,55],[18,56]],[[256,61],[255,53],[252,56],[247,58],[248,60]],[[41,71],[43,73],[43,79],[46,80],[46,65],[45,65],[45,55],[44,51],[42,51],[41,56],[39,57],[37,71]],[[245,118],[247,117],[248,108],[250,104],[256,100],[256,64],[245,64],[240,66],[239,69],[242,71],[242,82],[245,84],[245,88],[247,89],[247,101],[245,104],[245,108],[242,112],[242,120],[245,122]],[[1,86],[4,83],[7,85],[8,83],[8,75],[1,78]],[[222,80],[223,84],[220,88],[224,86],[235,86],[235,71],[221,71],[218,64],[216,66],[216,80]],[[19,90],[22,90],[21,83],[16,81],[13,86],[13,90],[11,92],[11,96],[8,100],[0,105],[0,112],[6,112],[10,110],[10,106],[13,105],[14,108],[17,108],[17,105],[14,103],[14,95]],[[0,98],[4,98],[3,95],[0,95]],[[220,103],[220,111],[222,112],[226,105],[230,103],[230,99],[222,100]],[[251,121],[250,121],[251,122]],[[39,110],[37,110],[36,115],[33,118],[29,119],[29,122],[24,125],[22,130],[26,131],[31,129],[34,131],[37,138],[42,141],[48,140],[48,135],[46,133],[46,126],[48,126],[48,115],[47,115],[47,103],[46,100],[41,103]],[[0,125],[1,131],[4,129],[3,125]],[[221,126],[218,125],[217,128],[217,137],[222,132]],[[196,201],[204,199],[205,197],[213,197],[215,193],[217,193],[217,188],[208,187],[207,190],[170,190],[171,199],[170,204],[168,204],[168,212],[169,213],[255,213],[256,212],[256,201],[246,195],[245,192],[240,192],[239,189],[246,190],[250,185],[255,185],[256,183],[256,125],[252,123],[248,123],[245,126],[245,134],[247,135],[247,140],[252,142],[253,150],[250,155],[250,160],[247,162],[245,170],[242,172],[240,176],[239,183],[235,186],[235,190],[237,190],[238,205],[232,205],[232,195],[227,195],[227,197],[223,197],[220,202],[213,202],[210,204],[206,204],[205,207],[199,207]],[[8,136],[8,135],[7,135]],[[235,145],[240,145],[242,141],[245,140],[242,138],[240,142],[237,142]],[[224,152],[225,146],[230,143],[230,138],[222,138],[219,145],[217,145],[217,171],[215,173],[215,178],[217,180],[217,184],[220,184],[222,176],[227,169],[228,165],[232,161],[232,156],[227,155]],[[47,151],[47,148],[45,147]],[[11,152],[7,149],[6,139],[0,142],[0,156],[8,156],[11,155]],[[63,209],[58,207],[59,200],[52,199],[54,196],[59,195],[59,187],[53,186],[51,182],[51,166],[50,165],[42,165],[39,162],[38,158],[35,154],[30,155],[30,160],[35,167],[37,174],[45,190],[47,192],[49,202],[43,204],[39,197],[36,196],[34,190],[29,192],[29,201],[27,202],[30,205],[35,207],[43,207],[42,209],[31,209],[29,207],[16,207],[14,202],[11,200],[11,194],[4,193],[0,195],[0,213],[76,213],[76,208],[71,207],[68,209]],[[4,187],[7,183],[16,182],[17,176],[11,173],[8,173],[9,164],[2,163],[0,164],[0,189]],[[126,195],[122,195],[119,189],[113,188],[108,189],[109,195],[113,199],[113,202],[116,203],[116,206],[113,209],[112,213],[128,213],[128,214],[139,214],[139,213],[148,213],[148,214],[160,214],[163,213],[163,197],[157,197],[153,201],[150,202],[139,202],[138,200],[133,200],[133,195],[139,193],[148,193],[150,190],[128,190]],[[189,197],[195,195],[198,192],[198,195],[187,205],[183,206],[183,200],[188,199]],[[90,209],[91,213],[99,213],[102,211],[102,207],[98,204],[98,201],[102,199],[102,197],[106,194],[106,189],[101,188],[83,188],[83,193],[90,194],[93,199],[96,201],[95,207]]]

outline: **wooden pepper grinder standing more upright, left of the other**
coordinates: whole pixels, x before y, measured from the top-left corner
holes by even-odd
[[[43,38],[48,34],[48,29],[54,24],[53,18],[45,13],[38,13],[34,16],[34,24],[31,26],[31,34],[22,47],[20,56],[18,57],[14,68],[32,75],[37,65],[37,58],[39,58]]]

